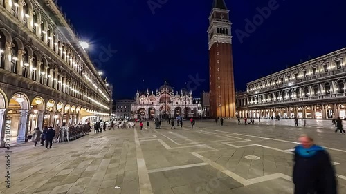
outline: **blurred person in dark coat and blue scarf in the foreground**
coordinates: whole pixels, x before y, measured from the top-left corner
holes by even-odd
[[[299,142],[293,158],[294,194],[336,194],[336,173],[325,148],[309,135],[301,135]]]

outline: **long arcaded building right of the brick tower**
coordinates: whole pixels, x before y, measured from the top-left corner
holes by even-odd
[[[346,48],[246,84],[240,117],[346,117]]]

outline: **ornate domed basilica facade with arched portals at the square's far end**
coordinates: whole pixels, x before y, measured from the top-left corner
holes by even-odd
[[[198,117],[199,104],[194,103],[192,91],[177,90],[164,84],[154,90],[137,91],[136,102],[131,105],[135,119],[167,119]]]

